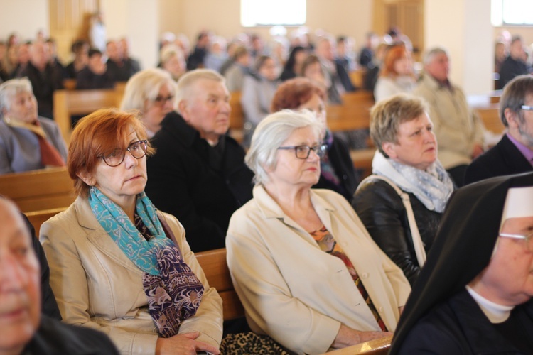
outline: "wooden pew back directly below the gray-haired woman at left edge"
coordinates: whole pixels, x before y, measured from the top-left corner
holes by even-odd
[[[65,167],[0,175],[0,194],[22,212],[68,207],[76,199]]]

